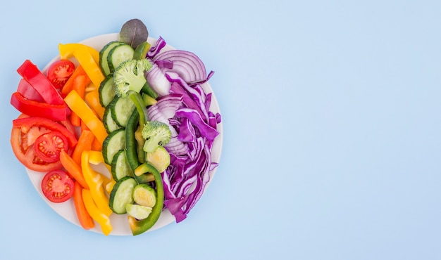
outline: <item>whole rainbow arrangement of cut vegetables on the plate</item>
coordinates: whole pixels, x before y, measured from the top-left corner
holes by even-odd
[[[161,37],[150,44],[138,19],[118,36],[100,49],[59,44],[47,70],[30,60],[18,67],[11,146],[44,175],[50,203],[73,201],[82,228],[109,235],[118,214],[139,235],[164,210],[180,222],[197,203],[218,166],[221,115],[203,88],[213,71],[198,56]]]

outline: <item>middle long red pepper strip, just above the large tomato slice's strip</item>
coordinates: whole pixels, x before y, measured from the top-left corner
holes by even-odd
[[[20,92],[11,96],[11,105],[23,114],[32,117],[46,117],[55,121],[67,119],[66,105],[51,105],[25,98]]]

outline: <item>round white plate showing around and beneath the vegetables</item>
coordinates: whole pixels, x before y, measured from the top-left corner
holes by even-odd
[[[86,44],[88,46],[92,46],[93,48],[95,48],[97,50],[101,50],[101,48],[104,45],[106,45],[108,42],[116,41],[118,39],[119,39],[118,33],[102,34],[102,35],[99,35],[96,37],[85,39],[84,41],[80,41],[80,43]],[[152,46],[154,46],[154,44],[156,43],[156,39],[153,39],[151,37],[149,37],[148,41]],[[167,44],[167,46],[165,46],[162,51],[166,51],[168,49],[173,49],[173,47]],[[44,67],[43,72],[45,72],[47,70],[47,68],[49,67],[49,65],[51,65],[51,63],[54,63],[54,61],[58,60],[59,58],[60,58],[60,56],[56,56],[54,59],[52,59],[48,63],[48,65],[46,65],[46,67]],[[203,84],[202,86],[204,87],[204,91],[206,91],[206,93],[212,93],[211,108],[210,108],[211,111],[214,113],[216,113],[216,112],[220,113],[218,101],[216,100],[216,96],[214,95],[213,89],[211,89],[210,84],[207,82],[207,83]],[[219,136],[216,137],[216,140],[213,143],[213,150],[212,150],[212,161],[213,162],[219,162],[219,160],[221,159],[222,133],[223,133],[222,123],[218,124],[218,131],[220,134],[219,134]],[[100,171],[101,174],[106,174],[107,176],[110,177],[108,170],[103,165],[100,165],[100,166],[96,167],[95,169],[97,169],[97,171]],[[209,184],[211,183],[211,180],[213,179],[213,176],[216,172],[216,169],[211,171],[210,182],[207,183],[205,189],[208,188]],[[47,204],[49,204],[49,207],[54,209],[54,211],[56,213],[58,213],[59,215],[63,216],[64,219],[67,219],[68,221],[74,223],[77,226],[80,226],[80,222],[77,220],[77,216],[75,213],[75,207],[73,204],[73,200],[68,200],[67,202],[63,202],[63,203],[50,202],[49,200],[46,199],[46,197],[44,197],[44,195],[42,193],[41,183],[42,183],[42,178],[43,178],[44,174],[41,172],[32,171],[27,168],[26,168],[26,171],[27,171],[27,174],[28,174],[30,180],[32,181],[32,184],[34,185],[35,189],[37,189],[37,192],[43,198],[43,200],[46,201]],[[132,232],[130,231],[130,227],[128,224],[127,214],[123,214],[123,215],[111,214],[110,219],[111,219],[111,223],[113,226],[113,230],[110,233],[110,235],[132,235]],[[170,212],[168,212],[168,209],[166,209],[162,212],[162,214],[161,214],[159,220],[156,222],[156,224],[151,229],[149,229],[147,232],[152,231],[152,230],[156,230],[158,228],[162,228],[163,226],[166,226],[169,223],[172,223],[173,221],[175,221],[175,217],[172,214],[170,214]],[[91,230],[94,232],[97,232],[97,233],[102,233],[101,226],[99,226],[98,223],[96,223],[95,227]]]

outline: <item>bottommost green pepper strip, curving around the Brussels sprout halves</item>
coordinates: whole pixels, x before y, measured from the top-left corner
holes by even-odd
[[[162,177],[158,170],[156,170],[155,167],[153,167],[148,162],[144,162],[143,164],[139,165],[135,169],[135,172],[137,174],[141,173],[150,173],[154,176],[155,186],[156,186],[156,204],[151,209],[151,213],[149,216],[147,216],[147,219],[137,220],[133,218],[132,216],[128,216],[129,226],[130,230],[132,230],[133,235],[139,235],[147,230],[149,230],[156,221],[158,221],[159,216],[161,216],[163,204],[164,204],[164,188],[162,183]],[[136,174],[135,174],[136,175]]]

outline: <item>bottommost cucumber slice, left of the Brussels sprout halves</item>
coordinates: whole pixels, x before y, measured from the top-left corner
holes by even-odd
[[[125,176],[116,181],[108,197],[108,207],[116,214],[127,213],[126,205],[133,204],[133,189],[137,186],[135,178]]]

